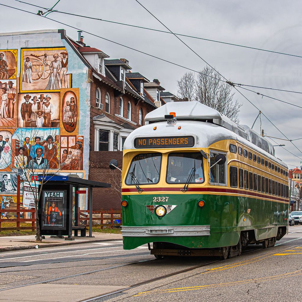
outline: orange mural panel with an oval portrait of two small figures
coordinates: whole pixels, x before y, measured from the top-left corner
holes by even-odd
[[[79,88],[61,89],[61,134],[79,134]]]

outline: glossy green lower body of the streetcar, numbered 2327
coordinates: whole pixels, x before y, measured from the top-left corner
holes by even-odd
[[[123,200],[128,202],[123,207],[124,249],[152,242],[191,249],[234,246],[241,231],[255,230],[255,239],[263,240],[275,237],[279,226],[287,226],[288,204],[250,197],[154,193],[123,195]],[[200,200],[203,207],[198,206]],[[163,217],[154,213],[159,205],[167,209]]]

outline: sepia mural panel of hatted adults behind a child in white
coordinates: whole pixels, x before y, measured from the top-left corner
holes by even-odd
[[[19,93],[18,127],[60,126],[60,93]]]

